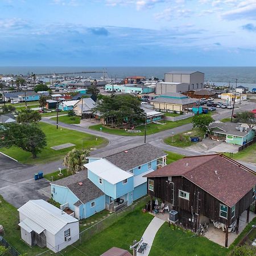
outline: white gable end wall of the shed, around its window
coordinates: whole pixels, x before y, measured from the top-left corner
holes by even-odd
[[[65,241],[64,232],[67,229],[70,229],[71,241]],[[55,237],[55,241],[53,244],[55,245],[55,252],[61,251],[65,247],[72,245],[72,243],[79,240],[79,221],[67,224],[54,237]],[[49,238],[50,236],[47,233],[47,241],[50,240]],[[50,247],[48,248],[51,249]]]

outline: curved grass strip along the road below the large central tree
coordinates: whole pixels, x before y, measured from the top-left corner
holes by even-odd
[[[154,133],[159,133],[160,131],[165,131],[168,129],[172,129],[181,125],[187,125],[188,123],[192,122],[192,117],[189,117],[184,120],[179,120],[179,121],[160,121],[161,123],[164,123],[163,125],[159,125],[156,123],[149,123],[147,125],[147,135],[154,134]],[[100,131],[100,127],[102,127],[102,132],[104,133],[110,133],[110,134],[116,134],[116,135],[123,135],[123,136],[143,136],[144,135],[144,125],[140,125],[136,127],[136,130],[141,130],[140,133],[127,133],[125,129],[118,129],[118,128],[111,128],[111,127],[106,127],[103,125],[93,125],[89,126],[89,129]]]

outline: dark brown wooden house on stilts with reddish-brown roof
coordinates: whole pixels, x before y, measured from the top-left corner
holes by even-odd
[[[147,177],[148,195],[157,197],[178,212],[178,223],[197,231],[202,222],[228,227],[255,201],[256,175],[249,168],[224,155],[190,156],[160,168]]]

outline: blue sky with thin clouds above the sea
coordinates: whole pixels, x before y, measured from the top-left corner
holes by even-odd
[[[0,66],[256,66],[256,0],[0,0]]]

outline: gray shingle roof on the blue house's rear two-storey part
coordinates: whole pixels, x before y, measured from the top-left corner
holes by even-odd
[[[123,171],[129,171],[164,155],[167,155],[164,151],[151,144],[145,143],[130,149],[126,147],[123,151],[106,156],[105,159],[121,168]]]

